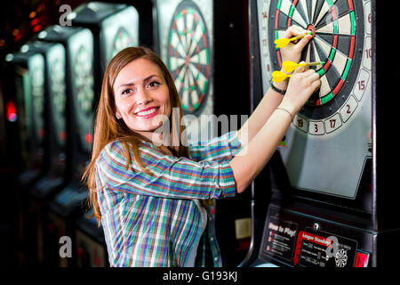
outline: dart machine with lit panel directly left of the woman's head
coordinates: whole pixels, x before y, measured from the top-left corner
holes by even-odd
[[[132,5],[89,2],[76,7],[68,18],[73,26],[92,31],[94,105],[97,105],[108,62],[125,47],[139,45],[139,14]],[[104,232],[92,211],[77,220],[76,243],[78,266],[102,267],[108,263]]]

